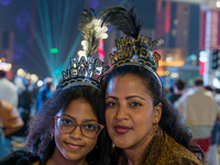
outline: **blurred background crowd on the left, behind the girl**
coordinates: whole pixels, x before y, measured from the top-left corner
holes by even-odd
[[[0,157],[24,147],[30,119],[54,90],[51,77],[37,86],[22,77],[10,81],[7,73],[0,70]]]

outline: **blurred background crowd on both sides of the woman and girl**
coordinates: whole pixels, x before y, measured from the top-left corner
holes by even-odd
[[[42,103],[54,92],[53,79],[46,77],[43,85],[38,87],[29,80],[16,77],[14,82],[7,79],[7,73],[0,70],[0,116],[1,116],[1,140],[4,138],[4,144],[0,141],[0,153],[9,154],[11,151],[25,145],[28,123],[37,110],[41,110]],[[167,89],[167,98],[174,107],[180,112],[183,122],[190,128],[194,134],[193,141],[200,145],[205,152],[206,160],[211,164],[218,165],[218,144],[220,142],[220,89],[213,89],[211,86],[204,86],[201,77],[195,78],[194,86],[186,88],[187,81],[177,78],[174,85]],[[6,106],[7,103],[10,106]],[[9,113],[16,114],[16,124],[6,122],[12,120],[8,114],[2,114],[8,108]],[[6,118],[6,119],[3,119]],[[20,118],[20,119],[19,119]],[[15,122],[14,122],[15,123]],[[9,128],[11,130],[9,130]],[[8,133],[7,133],[8,129]],[[4,135],[4,136],[3,136]],[[2,138],[3,136],[3,138]],[[21,140],[21,138],[23,138]],[[8,141],[8,142],[7,142]],[[7,142],[7,143],[6,143]],[[4,150],[2,152],[2,150]],[[7,151],[8,150],[8,151]],[[6,152],[7,151],[7,152]],[[3,157],[4,155],[0,155]]]

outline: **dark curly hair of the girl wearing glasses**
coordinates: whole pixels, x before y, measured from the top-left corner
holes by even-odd
[[[34,155],[40,155],[43,164],[46,164],[55,150],[55,141],[52,133],[55,127],[55,114],[61,110],[65,111],[73,100],[85,99],[96,113],[99,123],[105,124],[105,100],[102,92],[90,86],[70,86],[64,88],[61,84],[55,94],[45,101],[29,125],[26,147]],[[95,147],[86,157],[89,165],[107,165],[110,162],[108,152],[111,151],[111,140],[107,129],[101,131]]]

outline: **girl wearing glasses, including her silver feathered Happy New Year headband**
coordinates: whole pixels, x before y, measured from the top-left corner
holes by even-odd
[[[36,112],[29,128],[26,147],[2,158],[8,165],[108,165],[111,140],[105,128],[105,100],[100,90],[100,66],[94,55],[101,34],[94,11],[84,11],[81,29],[86,38],[86,55],[72,58],[70,68],[63,72],[63,82]],[[85,29],[84,29],[85,28]],[[96,31],[101,30],[102,32]],[[87,34],[88,33],[88,34]],[[99,38],[97,38],[97,34]],[[96,41],[96,42],[94,42]],[[105,70],[101,70],[103,73]]]

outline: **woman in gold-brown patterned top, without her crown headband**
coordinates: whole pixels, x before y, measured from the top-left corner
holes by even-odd
[[[119,162],[199,164],[188,151],[191,135],[158,87],[154,75],[138,66],[118,67],[106,79],[106,122]]]

